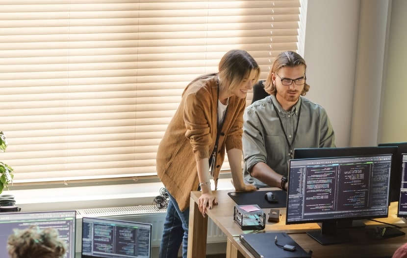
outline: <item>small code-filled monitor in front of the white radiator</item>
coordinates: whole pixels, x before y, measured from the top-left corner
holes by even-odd
[[[151,258],[152,224],[82,218],[82,258]]]

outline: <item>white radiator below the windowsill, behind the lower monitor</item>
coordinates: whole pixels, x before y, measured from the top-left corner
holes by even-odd
[[[152,246],[159,247],[163,231],[165,209],[157,209],[155,205],[85,209],[76,211],[76,252],[82,250],[82,217],[110,217],[131,220],[153,225]],[[226,242],[226,235],[209,218],[207,243]]]

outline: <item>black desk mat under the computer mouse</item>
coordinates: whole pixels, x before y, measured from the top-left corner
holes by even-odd
[[[257,204],[260,208],[282,208],[287,206],[287,193],[283,190],[272,191],[279,198],[278,203],[269,203],[264,195],[270,191],[257,190],[253,192],[230,192],[228,195],[237,205]]]

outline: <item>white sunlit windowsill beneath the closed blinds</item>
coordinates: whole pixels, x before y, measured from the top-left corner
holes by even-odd
[[[149,182],[5,190],[2,194],[13,194],[22,212],[32,212],[152,205],[161,188],[161,182]],[[218,190],[225,189],[234,190],[229,177],[218,180]]]

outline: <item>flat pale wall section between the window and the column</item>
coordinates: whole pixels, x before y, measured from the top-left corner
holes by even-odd
[[[307,3],[304,59],[311,88],[305,97],[327,110],[338,147],[350,141],[358,14],[355,0]]]

